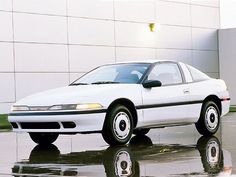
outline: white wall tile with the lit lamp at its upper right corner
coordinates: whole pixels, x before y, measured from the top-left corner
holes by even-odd
[[[156,47],[156,33],[150,32],[148,24],[115,23],[117,46]]]

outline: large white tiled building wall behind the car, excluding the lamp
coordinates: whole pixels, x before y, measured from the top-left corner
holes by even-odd
[[[0,26],[0,113],[104,63],[173,59],[219,76],[218,0],[0,0]]]

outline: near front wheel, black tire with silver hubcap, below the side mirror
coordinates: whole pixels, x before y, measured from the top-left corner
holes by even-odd
[[[123,105],[114,106],[103,125],[103,139],[111,146],[126,144],[133,133],[133,118],[129,109]]]

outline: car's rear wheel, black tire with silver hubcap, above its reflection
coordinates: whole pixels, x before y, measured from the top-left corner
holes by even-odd
[[[209,136],[217,132],[220,125],[220,111],[213,101],[204,103],[199,120],[195,126],[202,135]]]

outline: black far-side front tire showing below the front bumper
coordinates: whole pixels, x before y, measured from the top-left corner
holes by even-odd
[[[57,140],[58,133],[29,133],[30,138],[37,144],[48,146]]]

